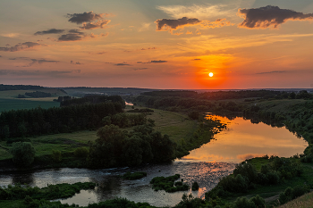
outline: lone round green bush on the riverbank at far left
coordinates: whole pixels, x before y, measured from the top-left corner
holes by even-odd
[[[13,154],[13,162],[18,166],[30,166],[34,162],[36,154],[34,146],[30,142],[13,143],[11,154]]]

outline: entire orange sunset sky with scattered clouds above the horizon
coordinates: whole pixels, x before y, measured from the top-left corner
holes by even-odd
[[[311,0],[2,0],[0,84],[312,88],[312,22]]]

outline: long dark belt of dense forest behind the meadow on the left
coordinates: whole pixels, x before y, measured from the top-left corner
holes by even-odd
[[[117,112],[123,112],[123,105],[116,102],[2,112],[0,140],[96,129],[104,117]]]

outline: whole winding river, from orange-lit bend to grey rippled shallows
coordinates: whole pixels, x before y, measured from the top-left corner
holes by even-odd
[[[35,172],[0,174],[0,185],[12,183],[46,187],[47,184],[96,182],[95,190],[80,191],[62,203],[88,205],[114,197],[124,197],[134,202],[147,202],[155,206],[173,206],[179,203],[184,192],[155,192],[149,181],[157,176],[181,174],[184,182],[199,183],[199,191],[186,193],[204,198],[205,193],[216,186],[219,179],[232,173],[235,163],[245,159],[268,155],[290,157],[301,154],[308,143],[285,128],[275,128],[264,123],[253,124],[243,118],[232,121],[221,116],[207,114],[207,119],[227,124],[227,129],[215,135],[215,139],[190,152],[190,155],[171,164],[147,165],[136,168],[105,170],[57,169]],[[123,180],[119,176],[127,171],[146,171],[148,176],[139,180]]]

